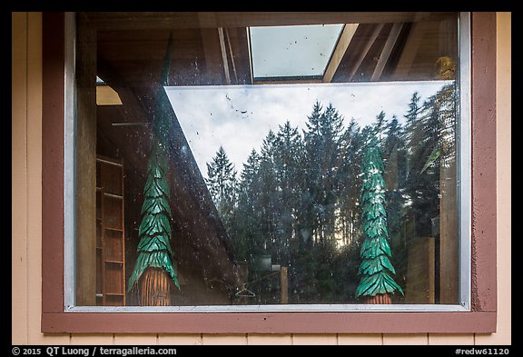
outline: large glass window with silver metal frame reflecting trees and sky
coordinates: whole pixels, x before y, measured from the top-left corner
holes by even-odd
[[[468,15],[306,16],[68,17],[62,312],[471,311]]]

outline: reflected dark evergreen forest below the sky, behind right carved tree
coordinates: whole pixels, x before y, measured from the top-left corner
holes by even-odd
[[[281,113],[259,147],[244,148],[241,167],[228,154],[232,143],[213,149],[201,171],[236,263],[256,282],[249,303],[281,302],[280,282],[262,279],[271,273],[263,259],[287,267],[289,303],[360,302],[362,161],[372,141],[383,162],[391,263],[405,290],[410,246],[419,237],[438,237],[441,196],[448,184],[456,194],[455,83],[424,100],[415,91],[404,107],[401,117],[387,108],[369,113],[373,119],[365,124],[316,101],[303,127]],[[395,302],[404,297],[397,294]]]

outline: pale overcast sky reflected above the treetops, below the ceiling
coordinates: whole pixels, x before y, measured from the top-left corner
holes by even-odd
[[[166,87],[174,113],[182,125],[203,176],[220,145],[240,174],[252,149],[260,152],[271,129],[278,132],[287,120],[305,128],[312,105],[332,104],[345,120],[360,127],[371,124],[380,111],[395,114],[403,123],[410,98],[418,92],[421,103],[435,94],[441,81],[365,84],[256,84]]]

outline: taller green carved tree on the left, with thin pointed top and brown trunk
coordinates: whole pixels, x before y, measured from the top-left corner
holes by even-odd
[[[153,140],[147,169],[147,181],[143,189],[142,222],[138,229],[138,257],[129,279],[128,289],[138,283],[141,305],[170,305],[170,287],[172,282],[180,289],[177,274],[173,266],[171,248],[171,223],[173,213],[169,206],[170,192],[168,175],[168,157],[170,148],[169,99],[163,85],[167,85],[170,57],[173,47],[169,39],[167,54],[163,63],[161,86],[155,96],[152,128]],[[172,110],[172,109],[171,109]]]

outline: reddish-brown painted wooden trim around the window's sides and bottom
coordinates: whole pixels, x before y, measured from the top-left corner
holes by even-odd
[[[64,14],[44,13],[42,332],[496,332],[495,13],[471,15],[471,39],[469,312],[64,312]]]

